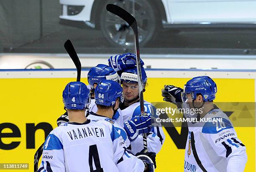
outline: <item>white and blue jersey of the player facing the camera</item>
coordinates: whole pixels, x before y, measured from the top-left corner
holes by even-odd
[[[144,111],[148,115],[154,115],[155,107],[151,105],[151,103],[144,101]],[[131,120],[132,117],[141,115],[141,109],[140,109],[140,102],[136,102],[125,109],[121,110],[123,115],[123,123]],[[154,127],[152,129],[152,132],[149,133],[147,137],[147,143],[148,143],[148,152],[155,152],[158,153],[161,150],[161,147],[164,143],[165,135],[164,131],[161,127],[161,124],[157,125],[154,124]],[[143,150],[143,136],[139,135],[136,140],[131,142],[131,152],[133,154],[136,154],[138,152],[141,152]]]

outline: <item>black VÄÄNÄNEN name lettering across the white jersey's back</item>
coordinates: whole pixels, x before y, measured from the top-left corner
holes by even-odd
[[[105,137],[103,128],[80,127],[67,132],[69,141],[80,140],[87,137]]]

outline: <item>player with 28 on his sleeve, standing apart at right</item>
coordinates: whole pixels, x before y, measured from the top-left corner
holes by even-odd
[[[188,122],[184,172],[243,172],[245,168],[246,147],[228,116],[213,104],[216,92],[217,86],[208,76],[192,78],[184,90],[173,85],[162,89],[165,101],[177,104],[183,100],[182,108],[198,112],[184,114],[197,119]]]

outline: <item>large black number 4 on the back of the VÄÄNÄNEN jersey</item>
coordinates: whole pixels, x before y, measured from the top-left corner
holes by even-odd
[[[93,170],[92,158],[93,158],[96,170]],[[90,172],[104,172],[103,168],[100,167],[100,157],[99,157],[97,145],[90,145],[89,147],[89,166],[90,166]]]

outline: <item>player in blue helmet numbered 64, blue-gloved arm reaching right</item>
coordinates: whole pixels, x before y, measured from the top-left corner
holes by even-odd
[[[119,88],[119,90],[117,89]],[[117,92],[117,94],[115,94]],[[151,130],[151,117],[143,116],[143,117],[134,117],[131,120],[127,121],[130,128],[127,128],[125,125],[125,129],[123,124],[119,125],[116,120],[113,119],[113,115],[108,116],[105,113],[105,109],[103,111],[98,107],[106,106],[113,107],[113,113],[119,108],[119,106],[115,106],[113,104],[114,100],[118,99],[118,103],[123,102],[123,89],[119,83],[112,80],[102,80],[100,81],[95,89],[95,103],[97,105],[97,112],[90,112],[90,115],[87,119],[90,120],[106,120],[112,123],[115,126],[115,129],[118,133],[123,137],[125,143],[123,146],[127,147],[130,145],[129,140],[135,139],[139,134],[147,133]],[[127,134],[126,134],[127,133]]]

